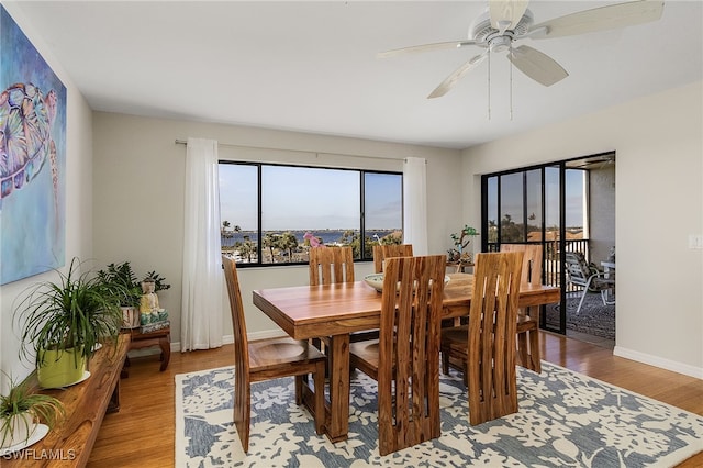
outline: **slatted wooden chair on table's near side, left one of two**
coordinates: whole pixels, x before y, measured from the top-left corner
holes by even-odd
[[[350,364],[378,381],[379,453],[439,436],[444,255],[388,258],[378,341],[352,343]]]

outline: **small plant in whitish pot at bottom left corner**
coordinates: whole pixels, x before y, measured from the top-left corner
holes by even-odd
[[[48,394],[32,392],[26,381],[0,395],[0,448],[26,444],[41,421],[53,428],[65,414],[64,404]]]

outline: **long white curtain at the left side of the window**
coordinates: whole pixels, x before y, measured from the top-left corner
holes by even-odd
[[[183,223],[181,352],[222,346],[217,142],[188,138]]]

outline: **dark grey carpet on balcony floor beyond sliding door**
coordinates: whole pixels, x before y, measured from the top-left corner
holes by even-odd
[[[587,333],[605,339],[615,339],[615,304],[603,305],[600,292],[589,292],[585,294],[583,305],[579,313],[581,292],[567,294],[567,330]],[[549,304],[546,307],[545,320],[547,324],[557,326],[559,323],[560,304]]]

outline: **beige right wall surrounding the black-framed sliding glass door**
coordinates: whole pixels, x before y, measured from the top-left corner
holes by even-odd
[[[703,378],[702,82],[464,152],[465,218],[480,174],[616,152],[615,354]]]

